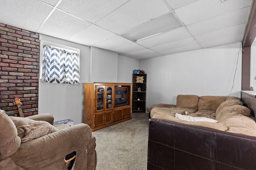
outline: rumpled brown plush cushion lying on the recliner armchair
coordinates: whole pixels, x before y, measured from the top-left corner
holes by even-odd
[[[10,117],[15,124],[21,143],[58,131],[46,121],[35,121],[26,117]]]

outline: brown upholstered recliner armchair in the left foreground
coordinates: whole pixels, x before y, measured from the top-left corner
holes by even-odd
[[[66,155],[76,151],[74,170],[95,170],[95,137],[84,123],[58,129],[45,113],[12,117],[0,113],[1,170],[67,170]],[[70,167],[69,167],[70,168]]]

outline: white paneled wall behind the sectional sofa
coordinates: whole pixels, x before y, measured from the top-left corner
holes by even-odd
[[[240,43],[140,60],[140,69],[148,74],[146,107],[176,104],[178,94],[240,98]]]

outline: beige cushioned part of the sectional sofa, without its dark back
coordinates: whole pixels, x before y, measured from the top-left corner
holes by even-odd
[[[156,119],[256,136],[256,123],[249,117],[250,109],[243,106],[238,98],[232,96],[178,95],[176,105],[158,104],[148,107],[148,112],[152,118]],[[186,121],[177,118],[176,113],[186,115],[182,118],[206,117],[218,122]]]

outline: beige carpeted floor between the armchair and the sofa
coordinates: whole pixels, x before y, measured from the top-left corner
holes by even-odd
[[[132,113],[132,119],[100,129],[96,138],[96,170],[146,170],[148,113]]]

